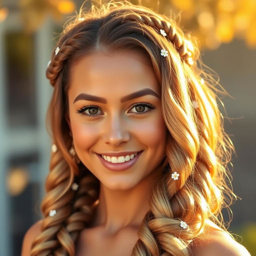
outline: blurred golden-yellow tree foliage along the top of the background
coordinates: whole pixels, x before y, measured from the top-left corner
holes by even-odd
[[[117,0],[118,1],[118,0]],[[50,14],[58,24],[68,15],[75,15],[84,0],[19,0],[24,30],[38,29]],[[108,0],[101,0],[102,3]],[[256,48],[256,1],[255,0],[130,0],[161,14],[175,18],[199,40],[200,48],[216,49],[234,38],[242,39],[249,48]],[[85,10],[95,0],[86,0]],[[0,8],[0,22],[8,16],[8,6]]]

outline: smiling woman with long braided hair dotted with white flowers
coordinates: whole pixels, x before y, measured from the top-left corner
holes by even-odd
[[[63,31],[46,76],[53,140],[44,218],[22,256],[248,256],[219,220],[225,134],[196,40],[127,1]]]

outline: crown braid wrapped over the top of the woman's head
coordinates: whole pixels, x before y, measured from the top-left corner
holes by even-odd
[[[184,60],[189,66],[194,65],[193,58],[195,54],[192,43],[188,39],[185,39],[184,33],[181,30],[178,31],[178,27],[176,28],[174,23],[172,24],[168,20],[161,18],[160,14],[158,15],[159,17],[157,17],[156,15],[147,15],[143,12],[137,13],[132,11],[132,9],[133,8],[130,10],[121,9],[118,11],[113,11],[108,16],[106,16],[105,19],[108,20],[110,17],[112,19],[113,16],[116,16],[115,18],[122,17],[123,20],[132,20],[134,22],[138,22],[139,24],[146,24],[147,26],[157,29],[158,31],[161,29],[164,30],[170,42],[175,46],[177,52],[180,55],[180,58]],[[103,21],[103,19],[104,18],[99,18],[101,21]],[[89,18],[83,21],[77,18],[71,29],[64,33],[62,38],[60,38],[57,44],[60,48],[60,51],[58,54],[55,54],[53,51],[52,61],[46,70],[46,77],[50,80],[50,84],[52,86],[54,86],[56,78],[64,66],[64,62],[69,59],[74,54],[74,52],[82,48],[83,45],[81,42],[83,41],[81,38],[83,37],[86,30],[83,25],[89,22]]]

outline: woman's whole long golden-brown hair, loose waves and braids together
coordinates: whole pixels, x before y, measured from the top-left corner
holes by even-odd
[[[47,121],[58,150],[51,154],[41,233],[30,256],[74,256],[80,231],[93,220],[99,180],[69,153],[72,137],[64,116],[72,67],[96,53],[132,50],[143,54],[161,86],[168,128],[165,161],[131,255],[188,256],[189,245],[203,238],[208,220],[230,234],[221,210],[236,198],[226,180],[230,181],[227,164],[234,146],[224,132],[217,105],[217,92],[227,92],[218,90],[218,81],[202,68],[197,39],[185,34],[174,18],[124,0],[92,5],[88,12],[81,8],[64,26],[57,46],[60,50],[58,54],[53,50],[46,76],[54,87]],[[161,49],[168,56],[163,57]],[[177,170],[180,176],[174,180],[171,173]],[[79,185],[77,191],[71,189],[74,182]],[[57,214],[50,217],[52,209]],[[188,228],[181,228],[181,220]]]

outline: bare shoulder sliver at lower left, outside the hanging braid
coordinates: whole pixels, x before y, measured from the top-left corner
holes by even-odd
[[[42,220],[38,220],[35,224],[33,224],[26,232],[23,242],[22,242],[22,251],[21,256],[29,256],[32,242],[41,232],[41,223]]]

